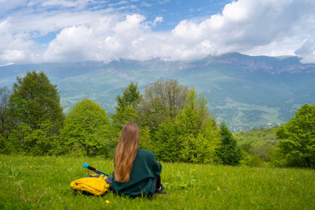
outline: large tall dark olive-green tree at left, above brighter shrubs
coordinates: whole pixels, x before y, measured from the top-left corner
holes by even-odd
[[[11,125],[16,128],[24,122],[31,130],[49,120],[51,132],[58,132],[64,120],[57,85],[50,82],[47,75],[40,71],[27,71],[25,77],[16,77],[12,94],[9,97],[7,113]]]

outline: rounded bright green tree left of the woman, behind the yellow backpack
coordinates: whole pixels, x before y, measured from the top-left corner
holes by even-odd
[[[60,140],[70,150],[79,147],[85,155],[107,156],[109,127],[105,110],[90,99],[83,99],[69,111]]]

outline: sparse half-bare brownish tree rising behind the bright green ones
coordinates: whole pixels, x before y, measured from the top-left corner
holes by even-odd
[[[177,79],[164,79],[144,87],[144,96],[137,112],[140,123],[149,127],[151,134],[158,130],[158,126],[167,119],[173,120],[183,109],[188,87],[181,85]]]

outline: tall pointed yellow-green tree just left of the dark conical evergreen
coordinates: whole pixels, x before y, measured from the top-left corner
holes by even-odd
[[[209,113],[203,94],[197,96],[192,87],[184,109],[175,120],[182,161],[208,163],[215,159],[220,133],[214,117]]]

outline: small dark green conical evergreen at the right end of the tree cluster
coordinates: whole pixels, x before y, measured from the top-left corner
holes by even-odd
[[[220,134],[222,144],[218,149],[218,156],[221,158],[223,164],[238,165],[242,157],[242,150],[224,121],[220,123]]]

